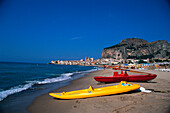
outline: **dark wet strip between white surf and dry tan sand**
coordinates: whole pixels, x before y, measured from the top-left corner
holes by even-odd
[[[72,80],[81,78],[91,71],[95,71],[95,68],[90,68],[88,70],[82,70],[79,72],[73,71],[71,78],[64,81],[52,82],[47,84],[35,84],[32,88],[24,90],[18,93],[14,93],[3,101],[0,102],[0,112],[2,113],[28,113],[26,108],[39,96],[46,94],[54,89],[71,84]],[[67,74],[67,73],[64,73]],[[10,108],[10,109],[8,109]]]

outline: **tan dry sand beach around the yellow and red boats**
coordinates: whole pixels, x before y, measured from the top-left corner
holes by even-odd
[[[52,92],[62,92],[116,85],[118,83],[99,83],[94,76],[111,76],[117,70],[106,69],[91,72],[72,81],[71,85]],[[139,70],[141,71],[141,70]],[[149,82],[135,82],[151,93],[131,92],[111,96],[86,99],[58,100],[48,94],[37,97],[27,108],[31,113],[169,113],[170,112],[170,72],[142,70],[157,74],[157,78]],[[119,71],[120,73],[120,71]],[[134,74],[134,73],[128,73]]]

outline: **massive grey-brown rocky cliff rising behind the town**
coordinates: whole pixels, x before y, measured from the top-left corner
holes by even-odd
[[[158,40],[149,43],[144,39],[127,38],[119,44],[104,48],[102,58],[128,59],[128,58],[170,58],[170,43]]]

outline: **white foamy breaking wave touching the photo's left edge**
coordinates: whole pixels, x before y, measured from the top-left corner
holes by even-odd
[[[2,101],[4,98],[6,98],[8,95],[12,95],[14,93],[18,93],[24,90],[27,90],[28,88],[30,88],[33,85],[33,83],[28,83],[25,85],[19,85],[16,87],[12,87],[9,90],[5,90],[5,91],[1,91],[0,92],[0,101]]]

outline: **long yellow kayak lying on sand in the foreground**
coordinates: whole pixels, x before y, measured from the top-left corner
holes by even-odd
[[[92,86],[90,86],[88,89],[75,90],[75,91],[62,92],[62,93],[49,93],[49,95],[59,99],[79,99],[79,98],[88,98],[88,97],[97,97],[97,96],[124,93],[139,88],[140,85],[138,84],[132,84],[129,82],[121,81],[118,85],[115,86],[108,86],[108,87],[101,87],[101,88],[93,88]]]

